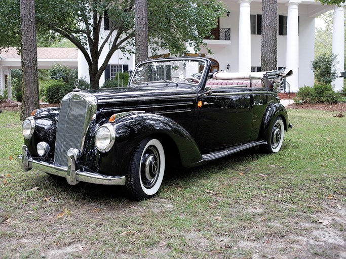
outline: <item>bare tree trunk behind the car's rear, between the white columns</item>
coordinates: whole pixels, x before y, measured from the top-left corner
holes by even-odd
[[[262,1],[262,50],[261,70],[277,69],[277,30],[278,3],[277,0]]]

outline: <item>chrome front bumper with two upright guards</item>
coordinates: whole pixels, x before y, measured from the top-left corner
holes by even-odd
[[[73,150],[72,152],[73,153]],[[79,182],[87,182],[102,185],[125,185],[125,176],[105,176],[96,172],[88,171],[85,168],[76,169],[77,163],[73,154],[68,154],[68,166],[59,166],[53,162],[45,162],[31,157],[26,145],[22,146],[22,155],[17,157],[17,161],[22,165],[24,171],[32,168],[39,169],[49,174],[66,178],[70,185],[78,184]]]

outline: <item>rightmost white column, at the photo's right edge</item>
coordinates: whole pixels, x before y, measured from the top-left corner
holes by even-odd
[[[343,88],[343,77],[340,76],[340,72],[343,72],[344,65],[344,42],[345,42],[345,28],[344,28],[344,7],[334,8],[333,18],[333,44],[332,53],[337,55],[336,57],[336,70],[337,78],[332,82],[335,91],[340,91]]]

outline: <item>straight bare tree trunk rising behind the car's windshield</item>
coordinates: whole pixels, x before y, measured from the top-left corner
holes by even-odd
[[[148,3],[147,0],[135,2],[136,23],[136,64],[148,58]]]

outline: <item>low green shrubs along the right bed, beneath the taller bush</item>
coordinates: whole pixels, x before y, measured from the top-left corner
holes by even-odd
[[[304,86],[299,88],[295,102],[305,103],[337,103],[340,93],[335,93],[330,84],[316,84],[313,88]]]

